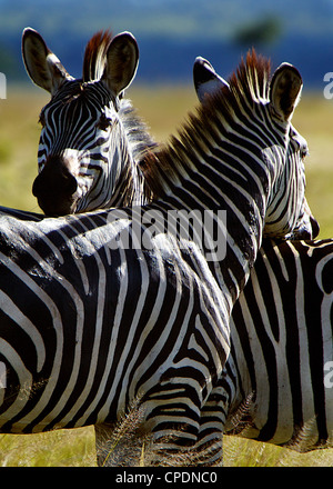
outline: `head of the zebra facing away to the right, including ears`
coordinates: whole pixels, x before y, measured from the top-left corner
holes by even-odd
[[[198,57],[193,66],[193,81],[200,102],[213,96],[221,88],[230,88],[228,81],[220,77],[212,64]],[[313,239],[319,234],[320,226],[313,217],[305,198],[304,158],[307,154],[305,139],[290,123],[302,89],[302,79],[297,70],[289,63],[281,64],[271,81],[270,106],[273,119],[278,120],[282,130],[289,128],[286,142],[286,161],[274,183],[274,202],[270,204],[266,216],[264,236],[276,237],[276,226],[281,227],[281,236],[289,239]],[[287,189],[286,189],[287,187]],[[287,202],[283,196],[289,197]],[[283,216],[284,223],[281,222]],[[289,233],[290,228],[292,231]]]

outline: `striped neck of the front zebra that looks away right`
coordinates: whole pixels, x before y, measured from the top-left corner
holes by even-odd
[[[222,108],[230,110],[224,102]],[[168,147],[149,154],[141,164],[161,204],[186,211],[225,211],[225,257],[211,262],[210,268],[220,288],[230,292],[230,310],[255,261],[280,171],[278,153],[283,150],[274,131],[263,134],[264,111],[263,106],[253,113],[251,122],[258,126],[259,136],[252,142],[245,129],[242,132],[238,124],[231,129],[223,112],[212,108],[206,113],[201,108],[179,138],[173,137]],[[276,134],[280,132],[276,128]]]

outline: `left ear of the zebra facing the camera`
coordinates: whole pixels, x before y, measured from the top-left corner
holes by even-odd
[[[53,94],[64,79],[71,79],[43,38],[31,28],[22,34],[22,58],[31,80]]]

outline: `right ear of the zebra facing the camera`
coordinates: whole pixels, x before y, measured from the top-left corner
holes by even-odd
[[[109,90],[117,96],[129,87],[135,77],[139,63],[139,48],[134,36],[122,32],[112,39],[102,80]]]

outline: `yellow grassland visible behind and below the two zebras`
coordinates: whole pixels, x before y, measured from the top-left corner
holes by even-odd
[[[196,104],[192,87],[133,88],[128,96],[158,141],[184,120]],[[39,212],[31,186],[37,174],[37,123],[48,94],[9,88],[0,100],[0,204]],[[306,196],[321,224],[320,238],[333,237],[333,100],[322,93],[305,94],[294,114],[294,126],[306,138]],[[284,448],[224,437],[225,466],[333,466],[333,449],[297,453]],[[0,435],[0,466],[94,466],[93,428],[51,433]]]

